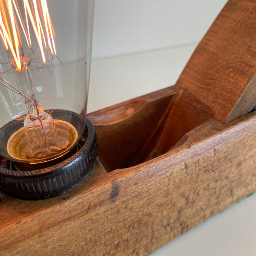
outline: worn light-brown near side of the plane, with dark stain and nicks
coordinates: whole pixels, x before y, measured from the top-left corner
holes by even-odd
[[[0,194],[0,255],[147,255],[256,190],[256,112],[212,119],[183,144],[93,175],[58,198]]]

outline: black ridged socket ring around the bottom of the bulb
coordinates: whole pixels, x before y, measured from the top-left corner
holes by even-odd
[[[79,147],[72,156],[67,153],[59,159],[61,162],[49,162],[47,167],[38,169],[31,165],[33,170],[0,157],[0,190],[15,198],[29,200],[50,198],[67,192],[86,179],[95,166],[98,141],[89,119],[86,120]]]

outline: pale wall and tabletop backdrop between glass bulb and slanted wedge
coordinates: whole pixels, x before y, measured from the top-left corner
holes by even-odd
[[[96,0],[87,113],[175,84],[227,0]]]

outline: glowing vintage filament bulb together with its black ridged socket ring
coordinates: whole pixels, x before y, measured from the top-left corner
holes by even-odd
[[[94,168],[93,10],[94,0],[0,0],[0,189],[9,195],[60,195]]]

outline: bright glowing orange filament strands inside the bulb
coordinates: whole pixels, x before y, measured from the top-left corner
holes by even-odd
[[[10,51],[15,60],[17,70],[22,70],[20,59],[23,57],[21,39],[26,39],[28,47],[31,45],[30,28],[36,37],[42,61],[46,64],[44,51],[50,49],[56,55],[54,44],[54,29],[49,15],[47,0],[23,0],[25,22],[17,4],[17,0],[0,1],[0,38],[6,50]],[[26,23],[26,25],[25,25]]]

